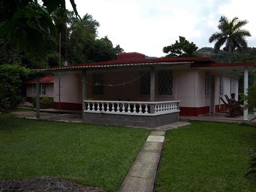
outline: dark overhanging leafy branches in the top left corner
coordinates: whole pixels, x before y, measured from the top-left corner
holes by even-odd
[[[44,57],[45,50],[43,34],[56,35],[51,13],[57,8],[66,10],[65,0],[42,0],[42,2],[43,5],[37,0],[0,1],[1,15],[8,15],[6,21],[1,20],[0,36],[7,35],[8,42],[15,42],[18,52],[28,49],[30,55],[37,53],[40,58]],[[70,0],[70,3],[78,15],[74,0]]]

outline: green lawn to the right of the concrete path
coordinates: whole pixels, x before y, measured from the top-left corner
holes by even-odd
[[[166,132],[157,191],[255,191],[248,170],[256,127],[193,122]]]

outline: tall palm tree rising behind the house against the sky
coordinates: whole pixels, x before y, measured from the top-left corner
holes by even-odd
[[[251,34],[248,30],[241,29],[247,23],[247,20],[238,20],[237,17],[229,21],[227,17],[221,16],[218,25],[220,31],[215,32],[209,38],[210,43],[215,41],[215,52],[218,52],[220,47],[225,44],[223,50],[228,52],[228,62],[231,62],[231,53],[235,49],[242,53],[247,48],[245,37],[250,37]]]

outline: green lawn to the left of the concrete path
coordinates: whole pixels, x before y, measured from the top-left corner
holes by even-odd
[[[118,191],[150,130],[0,115],[0,180],[42,176]]]

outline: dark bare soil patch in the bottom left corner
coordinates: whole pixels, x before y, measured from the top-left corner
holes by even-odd
[[[71,182],[67,179],[57,177],[42,177],[24,180],[2,180],[0,181],[1,192],[106,192],[98,187],[85,187]]]

